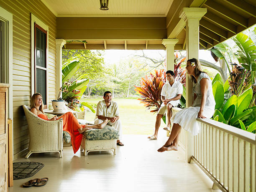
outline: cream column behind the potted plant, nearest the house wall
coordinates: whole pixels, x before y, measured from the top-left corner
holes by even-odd
[[[59,88],[62,85],[62,47],[66,44],[64,39],[56,39],[56,99],[59,94]]]

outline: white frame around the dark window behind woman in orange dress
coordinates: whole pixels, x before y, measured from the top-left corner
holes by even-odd
[[[47,99],[47,108],[49,108],[49,62],[48,62],[48,55],[49,55],[49,27],[38,19],[35,15],[31,13],[31,96],[35,93],[35,38],[34,38],[34,23],[39,25],[41,28],[47,31],[46,37],[46,99]]]

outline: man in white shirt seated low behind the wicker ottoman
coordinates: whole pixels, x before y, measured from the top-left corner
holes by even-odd
[[[118,104],[115,101],[112,101],[112,94],[110,91],[104,93],[103,99],[104,100],[99,101],[97,104],[96,116],[94,119],[95,125],[108,119],[110,121],[108,124],[119,131],[120,137],[116,141],[117,144],[123,146],[123,143],[120,141],[122,137],[122,127],[119,120]]]

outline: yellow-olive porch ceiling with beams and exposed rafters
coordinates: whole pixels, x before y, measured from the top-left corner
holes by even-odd
[[[207,8],[200,20],[201,49],[256,23],[255,0],[110,0],[108,11],[99,9],[98,0],[42,2],[57,17],[57,38],[81,41],[68,41],[67,49],[165,49],[163,38],[178,38],[175,49],[184,49],[184,7]]]

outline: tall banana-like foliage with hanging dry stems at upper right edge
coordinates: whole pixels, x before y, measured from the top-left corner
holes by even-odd
[[[218,58],[225,58],[226,64],[232,66],[228,83],[230,84],[231,95],[240,96],[248,88],[253,89],[253,97],[250,106],[255,106],[255,76],[256,76],[256,28],[249,31],[250,36],[239,33],[232,38],[235,44],[231,48],[228,43],[220,43],[211,51]],[[226,57],[228,56],[228,57]]]

